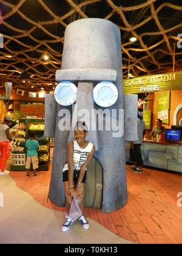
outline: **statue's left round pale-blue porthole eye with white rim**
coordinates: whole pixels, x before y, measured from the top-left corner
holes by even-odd
[[[55,88],[55,99],[62,106],[72,105],[76,101],[77,87],[69,81],[59,83]]]

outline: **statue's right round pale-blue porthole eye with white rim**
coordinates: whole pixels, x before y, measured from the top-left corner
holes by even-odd
[[[93,89],[93,99],[100,107],[110,107],[118,99],[118,89],[112,82],[101,82]]]

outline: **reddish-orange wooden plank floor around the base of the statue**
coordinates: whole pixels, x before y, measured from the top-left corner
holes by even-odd
[[[39,204],[65,212],[47,199],[51,171],[41,171],[39,176],[29,178],[24,171],[14,171],[10,176]],[[146,168],[143,174],[137,174],[127,166],[127,187],[125,207],[112,213],[86,208],[86,216],[135,243],[181,244],[182,207],[177,206],[177,194],[182,192],[182,175]]]

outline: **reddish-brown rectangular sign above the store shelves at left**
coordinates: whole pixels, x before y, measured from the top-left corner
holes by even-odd
[[[21,115],[29,116],[44,116],[45,115],[45,105],[44,104],[27,104],[20,105]]]

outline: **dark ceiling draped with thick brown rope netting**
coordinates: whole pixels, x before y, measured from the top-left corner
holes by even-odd
[[[81,18],[118,25],[124,78],[165,73],[174,60],[175,70],[181,67],[181,0],[0,0],[0,9],[0,87],[12,82],[15,89],[52,91],[61,68],[64,30]],[[132,43],[130,37],[137,40]]]

